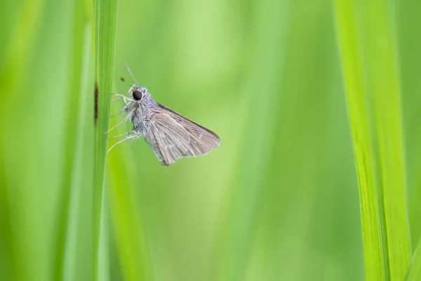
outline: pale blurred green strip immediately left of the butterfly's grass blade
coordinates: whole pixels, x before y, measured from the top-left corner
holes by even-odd
[[[92,210],[93,185],[93,25],[85,25],[83,46],[83,68],[81,71],[81,98],[76,134],[74,169],[69,193],[67,237],[62,280],[91,279],[92,265],[92,217],[86,216]],[[84,259],[79,256],[83,255]]]

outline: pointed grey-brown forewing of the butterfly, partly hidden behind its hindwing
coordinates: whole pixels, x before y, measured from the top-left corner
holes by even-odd
[[[217,148],[219,146],[220,138],[216,133],[187,119],[171,108],[158,103],[158,107],[154,107],[152,111],[157,114],[168,115],[185,129],[189,136],[189,146],[183,156],[192,157],[204,155],[210,152],[212,148]]]

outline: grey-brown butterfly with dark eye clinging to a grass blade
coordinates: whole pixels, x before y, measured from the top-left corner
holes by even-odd
[[[126,68],[133,77],[128,65]],[[169,166],[181,157],[206,155],[212,148],[217,148],[220,145],[220,137],[216,133],[180,115],[171,108],[156,103],[147,89],[140,85],[135,77],[133,80],[136,84],[133,84],[128,90],[128,96],[114,94],[120,96],[117,100],[123,99],[125,106],[119,113],[124,113],[126,116],[104,134],[128,120],[133,124],[133,129],[128,133],[112,137],[126,136],[122,141],[112,145],[107,153],[123,141],[142,137],[152,148],[159,162],[163,166]]]

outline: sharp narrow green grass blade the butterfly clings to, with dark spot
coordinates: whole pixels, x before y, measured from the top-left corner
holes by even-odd
[[[116,37],[116,0],[95,1],[95,183],[94,183],[94,249],[93,280],[98,280],[99,242],[102,220],[102,198],[107,151],[109,105],[111,103],[114,48]]]

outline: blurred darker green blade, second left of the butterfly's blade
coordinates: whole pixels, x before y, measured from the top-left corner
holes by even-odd
[[[84,169],[81,170],[81,164],[79,162],[88,162],[87,157],[88,155],[84,156],[85,159],[80,160],[79,162],[76,161],[76,154],[78,151],[82,149],[83,144],[77,145],[76,138],[77,136],[83,135],[82,126],[78,122],[74,122],[75,120],[75,112],[77,112],[76,116],[80,118],[81,113],[79,110],[83,110],[83,107],[80,105],[86,102],[86,99],[89,97],[86,96],[86,89],[82,88],[82,80],[88,77],[88,72],[83,71],[84,65],[86,65],[86,60],[89,60],[89,50],[91,48],[91,38],[88,36],[81,36],[83,31],[86,29],[86,19],[84,14],[81,11],[84,11],[84,1],[78,0],[74,1],[69,4],[68,14],[70,15],[69,21],[73,24],[72,29],[72,38],[70,39],[72,48],[70,48],[70,52],[68,55],[69,60],[69,89],[66,100],[66,120],[65,120],[65,128],[64,131],[64,144],[65,147],[63,161],[65,162],[65,166],[63,167],[64,174],[62,176],[62,183],[60,186],[60,202],[58,203],[58,235],[57,235],[57,242],[55,245],[55,268],[54,268],[54,279],[59,280],[62,277],[64,267],[66,266],[63,263],[65,259],[65,249],[67,244],[68,237],[68,227],[69,227],[69,206],[70,206],[70,198],[71,192],[73,188],[76,188],[74,185],[75,181],[75,174],[80,173],[80,176],[83,173],[92,172],[93,169]],[[87,50],[86,50],[87,48]],[[88,52],[83,57],[83,52]],[[82,75],[85,74],[86,76],[83,77]],[[92,143],[87,143],[92,147]],[[92,161],[92,159],[90,159]],[[83,182],[79,183],[79,185],[83,185]],[[91,184],[88,184],[89,187]],[[79,206],[74,206],[74,209],[79,208]]]

